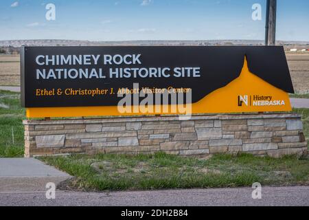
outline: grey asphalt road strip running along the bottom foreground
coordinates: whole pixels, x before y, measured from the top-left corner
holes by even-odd
[[[56,191],[56,199],[45,192],[0,192],[0,206],[309,206],[309,186],[262,186],[262,199],[252,199],[252,190]]]

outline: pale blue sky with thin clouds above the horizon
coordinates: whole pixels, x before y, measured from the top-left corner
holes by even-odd
[[[1,0],[0,41],[262,40],[265,14],[266,0]],[[308,23],[308,0],[277,1],[277,40],[309,41]]]

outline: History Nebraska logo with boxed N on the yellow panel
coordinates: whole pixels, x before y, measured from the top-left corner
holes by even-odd
[[[252,100],[252,104],[251,104],[251,100]],[[249,106],[270,106],[270,105],[275,106],[275,105],[285,105],[286,103],[284,102],[284,100],[275,100],[273,96],[243,95],[243,96],[238,96],[238,106],[242,107],[242,104],[245,104],[246,106],[248,105]]]

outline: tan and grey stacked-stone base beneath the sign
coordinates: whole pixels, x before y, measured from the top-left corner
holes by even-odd
[[[294,113],[24,120],[25,157],[67,153],[209,155],[298,154],[307,151],[301,117]]]

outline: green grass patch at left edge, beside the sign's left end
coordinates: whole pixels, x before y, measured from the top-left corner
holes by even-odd
[[[20,94],[0,90],[0,157],[23,156],[23,118]]]

